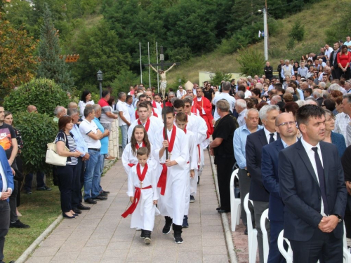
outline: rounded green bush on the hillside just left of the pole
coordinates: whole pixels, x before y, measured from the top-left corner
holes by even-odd
[[[246,76],[261,75],[265,67],[265,57],[263,53],[256,49],[240,50],[237,62],[240,65],[240,72]]]

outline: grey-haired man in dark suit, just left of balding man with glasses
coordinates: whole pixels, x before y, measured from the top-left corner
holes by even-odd
[[[262,147],[268,143],[279,139],[279,134],[275,130],[275,119],[279,115],[277,105],[265,105],[260,109],[260,119],[264,125],[262,130],[248,135],[246,140],[246,166],[251,175],[250,195],[253,201],[253,216],[256,222],[258,253],[260,263],[263,263],[263,239],[260,228],[260,218],[264,210],[268,208],[270,193],[265,189],[262,183],[261,159]],[[270,226],[266,224],[267,234],[270,236]]]

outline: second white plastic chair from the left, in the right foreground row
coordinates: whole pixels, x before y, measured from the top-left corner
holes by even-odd
[[[249,200],[249,194],[246,194],[244,198],[244,210],[247,218],[247,238],[249,243],[249,263],[256,263],[257,255],[257,229],[253,228],[251,220],[251,211],[249,209],[249,201],[253,205],[253,202]]]

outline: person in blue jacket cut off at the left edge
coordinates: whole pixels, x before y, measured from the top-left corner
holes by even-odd
[[[0,146],[0,263],[4,263],[5,236],[10,228],[9,197],[13,191],[13,174],[4,148]]]

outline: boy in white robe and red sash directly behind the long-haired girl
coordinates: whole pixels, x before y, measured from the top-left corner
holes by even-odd
[[[131,123],[131,126],[129,126],[128,128],[128,142],[131,142],[131,135],[133,133],[133,128],[137,125],[143,125],[147,132],[147,135],[149,135],[150,142],[154,145],[154,135],[157,133],[159,126],[157,125],[157,123],[149,119],[148,114],[149,112],[147,109],[147,104],[144,102],[140,102],[138,104],[139,118],[133,121]]]

